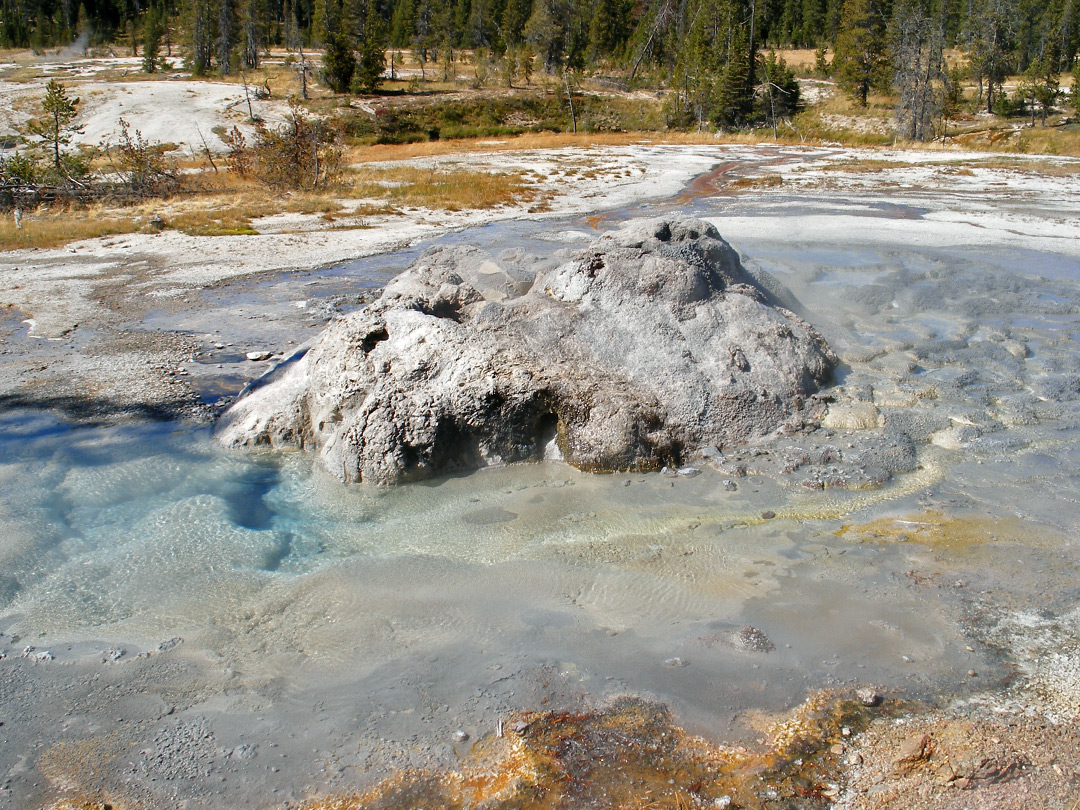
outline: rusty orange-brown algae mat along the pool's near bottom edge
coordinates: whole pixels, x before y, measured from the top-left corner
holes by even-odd
[[[677,727],[669,710],[617,698],[581,714],[526,713],[503,738],[480,741],[460,771],[401,773],[363,796],[319,799],[303,810],[645,810],[825,808],[838,767],[832,747],[869,710],[819,692],[782,718],[760,717],[754,750],[712,744]],[[777,802],[780,804],[777,804]]]

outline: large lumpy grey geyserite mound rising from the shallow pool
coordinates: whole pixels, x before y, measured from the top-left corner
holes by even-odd
[[[678,468],[771,433],[829,377],[835,355],[777,286],[696,219],[633,221],[531,286],[476,248],[431,251],[218,436],[314,447],[376,484],[553,457]]]

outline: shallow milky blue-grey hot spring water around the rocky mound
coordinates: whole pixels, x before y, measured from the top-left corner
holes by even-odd
[[[691,207],[723,232],[732,205]],[[822,210],[794,200],[791,216]],[[564,245],[545,233],[580,227],[446,241],[554,252]],[[12,707],[2,789],[30,800],[80,784],[75,766],[35,775],[18,751],[29,741],[52,751],[122,729],[152,748],[162,729],[195,720],[215,741],[207,761],[231,764],[226,785],[208,793],[160,761],[126,768],[119,744],[103,755],[118,764],[105,781],[195,807],[252,804],[450,766],[464,750],[448,742],[455,729],[475,739],[513,711],[623,692],[724,737],[746,733],[747,710],[822,686],[930,698],[1003,683],[972,617],[1076,596],[1080,273],[1034,252],[731,241],[793,291],[846,360],[843,386],[887,414],[886,436],[777,438],[746,454],[733,491],[707,468],[667,478],[555,463],[373,490],[341,486],[305,454],[222,450],[205,429],[0,415],[0,667],[22,667],[0,692]],[[314,281],[369,286],[401,261]],[[292,295],[285,280],[217,300]],[[858,454],[893,429],[918,438],[919,467],[883,487],[816,490],[798,465],[778,472],[777,459]],[[876,521],[910,536],[860,528]],[[751,626],[760,649],[745,642]],[[28,643],[53,660],[27,664]],[[72,687],[77,719],[59,725],[69,706],[51,696],[90,676],[116,691]],[[242,742],[264,755],[238,765],[228,752]]]

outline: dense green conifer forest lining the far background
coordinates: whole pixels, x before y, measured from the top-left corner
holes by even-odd
[[[1045,114],[1059,95],[1053,77],[1077,59],[1080,0],[0,0],[2,46],[80,37],[126,42],[147,70],[183,43],[194,75],[254,69],[285,46],[300,53],[305,81],[303,49],[320,48],[338,93],[376,90],[401,51],[446,76],[469,51],[477,76],[490,65],[508,83],[593,70],[665,85],[669,121],[681,126],[774,124],[798,85],[771,49],[815,48],[819,68],[861,103],[895,90],[905,134],[927,139],[968,79],[1001,111],[1016,104],[1005,77],[1024,73],[1021,103]],[[967,75],[947,68],[948,48],[967,53]]]

